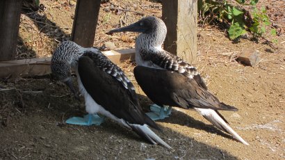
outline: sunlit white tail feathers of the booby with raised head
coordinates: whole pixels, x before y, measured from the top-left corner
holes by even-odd
[[[216,113],[213,109],[199,109],[199,108],[194,108],[194,109],[195,111],[203,115],[204,118],[209,120],[213,125],[215,125],[215,127],[218,127],[219,129],[222,130],[225,129],[227,133],[231,134],[231,136],[236,138],[238,141],[240,141],[244,145],[249,145],[245,140],[243,140],[243,138],[241,138],[241,136],[239,136],[236,133],[236,131],[234,131],[234,129],[231,129],[231,127],[229,127],[227,122],[225,122],[225,120],[222,120],[220,115],[218,115],[218,113]]]

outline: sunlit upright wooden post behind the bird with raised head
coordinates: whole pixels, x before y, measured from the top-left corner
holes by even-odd
[[[194,63],[197,58],[197,0],[164,0],[162,14],[168,28],[164,49]]]

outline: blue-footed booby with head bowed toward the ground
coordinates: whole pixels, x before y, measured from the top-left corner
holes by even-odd
[[[83,48],[65,41],[51,58],[51,72],[64,81],[75,93],[71,82],[71,67],[76,71],[79,91],[85,99],[88,119],[83,125],[92,124],[92,116],[101,113],[135,131],[152,144],[171,147],[159,138],[148,126],[159,129],[156,123],[142,112],[135,88],[124,72],[98,49]],[[71,120],[78,124],[77,120]],[[82,120],[81,120],[82,121]],[[83,119],[84,121],[84,119]]]

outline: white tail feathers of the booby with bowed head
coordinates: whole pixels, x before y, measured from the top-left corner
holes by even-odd
[[[142,136],[142,134],[144,134],[145,138],[147,138],[152,143],[154,143],[154,144],[158,143],[160,145],[163,145],[164,147],[167,147],[168,149],[172,149],[172,147],[170,147],[161,138],[159,138],[159,136],[157,136],[154,133],[154,131],[149,129],[149,127],[147,125],[134,125],[134,124],[129,124],[129,125],[134,131],[136,131],[138,134],[140,134],[140,136]]]

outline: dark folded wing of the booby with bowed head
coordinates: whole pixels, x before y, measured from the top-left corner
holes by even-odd
[[[83,54],[78,65],[80,79],[92,99],[119,119],[122,118],[130,124],[147,124],[158,129],[142,112],[135,90],[125,88],[122,80],[98,67],[99,61],[104,63],[104,60],[96,58],[93,54]]]

